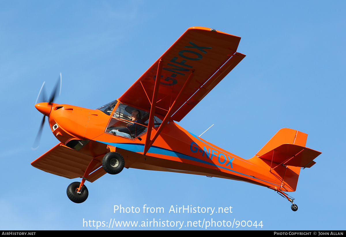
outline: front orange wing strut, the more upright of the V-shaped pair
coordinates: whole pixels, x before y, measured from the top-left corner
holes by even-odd
[[[154,93],[153,93],[153,99],[152,99],[151,108],[150,108],[150,115],[149,115],[148,129],[147,129],[147,138],[145,140],[144,151],[146,151],[145,149],[149,147],[149,143],[151,142],[150,136],[151,136],[151,130],[152,130],[153,125],[154,125],[153,124],[154,123],[154,114],[155,114],[155,108],[156,108],[158,88],[160,86],[162,68],[163,68],[163,62],[162,62],[162,59],[160,59],[160,61],[158,62],[158,67],[157,67]],[[149,148],[147,150],[149,150]]]

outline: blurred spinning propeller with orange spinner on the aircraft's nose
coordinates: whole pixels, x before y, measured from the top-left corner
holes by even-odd
[[[55,85],[55,87],[51,93],[51,96],[49,96],[48,100],[46,98],[46,90],[44,88],[45,82],[43,82],[42,87],[40,89],[40,92],[38,93],[35,107],[37,108],[37,110],[39,112],[43,113],[43,118],[42,118],[40,128],[38,130],[36,139],[34,141],[33,147],[31,148],[32,150],[36,150],[39,146],[45,118],[46,118],[46,116],[48,116],[48,119],[49,119],[49,114],[51,113],[52,103],[54,101],[54,98],[57,96],[58,93],[59,93],[59,95],[61,93],[61,82],[62,82],[62,80],[61,80],[61,73],[60,73],[60,77],[58,77],[56,85]]]

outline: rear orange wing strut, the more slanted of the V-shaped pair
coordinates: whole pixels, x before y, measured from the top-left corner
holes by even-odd
[[[192,73],[190,73],[189,78],[185,81],[185,84],[183,85],[183,87],[181,88],[181,91],[179,92],[178,96],[175,98],[170,110],[168,111],[168,113],[166,114],[165,118],[163,119],[160,127],[158,127],[154,138],[152,140],[150,140],[150,136],[149,134],[147,134],[147,140],[145,141],[145,145],[144,145],[144,152],[143,155],[145,155],[149,148],[151,147],[151,145],[154,143],[154,141],[156,140],[156,138],[158,137],[158,135],[162,132],[163,128],[165,127],[165,125],[167,124],[167,122],[171,119],[171,116],[173,115],[174,111],[175,111],[175,107],[177,104],[179,104],[179,101],[181,99],[181,97],[184,95],[186,88],[188,88],[192,78],[193,78],[193,72],[194,70],[192,70]],[[157,80],[157,77],[156,77]],[[155,87],[156,87],[156,82],[155,82]],[[154,92],[155,93],[155,92]],[[154,106],[152,105],[152,108]],[[151,116],[152,114],[150,114]],[[150,119],[150,117],[149,117]],[[149,126],[151,126],[151,123],[149,121],[149,125],[148,125],[148,131],[149,131]],[[152,127],[152,126],[151,126]],[[148,140],[149,139],[149,140]],[[150,142],[149,142],[150,141]]]

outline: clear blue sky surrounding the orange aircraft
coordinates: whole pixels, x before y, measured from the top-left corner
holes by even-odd
[[[344,1],[0,2],[0,228],[94,230],[83,219],[138,225],[155,219],[200,230],[202,222],[186,222],[212,218],[263,227],[207,229],[345,229],[345,7]],[[88,200],[75,204],[66,188],[80,179],[30,165],[58,143],[46,124],[39,148],[31,150],[44,81],[49,93],[61,72],[57,103],[98,108],[124,93],[191,26],[242,37],[238,52],[247,56],[179,125],[199,135],[215,124],[202,138],[245,159],[283,127],[307,133],[307,146],[322,154],[289,193],[297,212],[254,184],[136,169],[87,182]],[[114,205],[141,211],[114,213]],[[164,213],[143,213],[144,205]],[[232,213],[169,212],[183,205],[231,206]]]

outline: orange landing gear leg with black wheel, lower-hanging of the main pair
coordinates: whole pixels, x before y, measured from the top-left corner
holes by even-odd
[[[88,176],[92,169],[95,167],[97,163],[100,161],[92,159],[90,161],[88,168],[86,168],[84,172],[84,176],[82,177],[82,182],[73,182],[67,187],[66,194],[69,199],[75,203],[82,203],[84,202],[89,195],[88,189],[84,185],[85,180],[88,180]],[[90,180],[88,180],[90,181]]]

